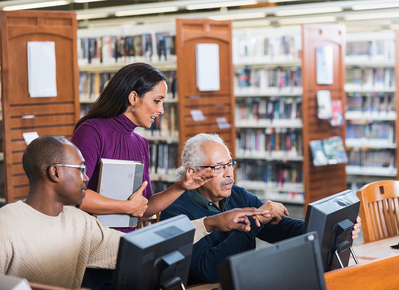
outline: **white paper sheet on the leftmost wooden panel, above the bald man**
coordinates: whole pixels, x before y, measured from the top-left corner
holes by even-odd
[[[27,45],[29,96],[56,97],[55,42],[29,41]]]

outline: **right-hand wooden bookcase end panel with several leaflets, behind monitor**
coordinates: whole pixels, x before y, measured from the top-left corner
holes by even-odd
[[[345,110],[345,26],[340,24],[304,24],[302,26],[302,120],[303,120],[303,176],[305,211],[309,202],[343,191],[347,187],[345,165],[314,167],[309,142],[340,136],[345,142],[346,127],[333,127],[328,120],[317,117],[317,91],[330,90],[332,100],[341,100]],[[333,84],[316,83],[316,48],[333,48]]]

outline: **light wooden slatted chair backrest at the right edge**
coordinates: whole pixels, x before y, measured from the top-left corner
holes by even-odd
[[[399,235],[399,181],[381,180],[357,191],[365,242]]]

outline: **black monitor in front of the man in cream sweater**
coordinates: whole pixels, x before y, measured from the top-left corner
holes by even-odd
[[[194,227],[186,215],[121,237],[114,290],[175,290],[187,285]]]

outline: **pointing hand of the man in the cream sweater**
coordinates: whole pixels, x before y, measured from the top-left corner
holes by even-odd
[[[247,208],[235,208],[228,211],[215,214],[212,216],[205,217],[203,224],[207,232],[212,230],[217,231],[231,231],[239,230],[244,232],[249,232],[251,230],[251,223],[249,222],[247,216],[252,217],[255,223],[260,227],[260,222],[258,217],[263,217],[270,219],[268,210],[259,210],[252,207]]]

